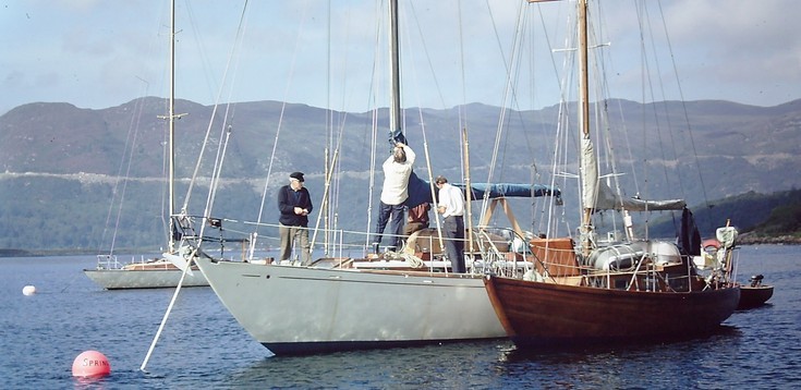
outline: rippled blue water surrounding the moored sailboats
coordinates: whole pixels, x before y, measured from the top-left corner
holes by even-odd
[[[740,281],[763,273],[769,305],[737,312],[715,336],[668,344],[522,353],[505,340],[275,357],[208,288],[184,289],[139,370],[174,290],[102,291],[95,258],[0,258],[0,388],[788,388],[801,383],[801,246],[745,246]],[[37,294],[25,296],[33,284]],[[269,297],[280,298],[280,297]],[[291,300],[291,296],[284,298]],[[111,375],[82,381],[98,350]]]

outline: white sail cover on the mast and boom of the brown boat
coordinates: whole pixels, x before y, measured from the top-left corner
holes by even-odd
[[[598,180],[598,164],[595,159],[592,139],[582,139],[581,155],[582,200],[585,208],[594,210],[658,211],[681,210],[687,206],[683,199],[645,200],[624,198]]]

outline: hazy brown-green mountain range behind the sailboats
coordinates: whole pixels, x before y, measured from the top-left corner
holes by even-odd
[[[775,107],[730,101],[604,103],[619,112],[610,117],[609,127],[635,129],[628,132],[630,155],[645,156],[623,157],[621,167],[647,160],[639,164],[647,167],[645,173],[700,168],[648,175],[643,194],[669,197],[679,192],[690,206],[708,207],[712,199],[801,184],[801,100]],[[35,102],[0,117],[0,248],[92,252],[110,245],[132,251],[162,246],[168,142],[167,121],[159,117],[167,112],[165,99],[146,97],[97,110]],[[373,127],[387,123],[386,109],[351,113],[278,101],[215,108],[178,100],[175,112],[186,113],[175,121],[179,207],[184,202],[190,209],[204,207],[205,196],[185,200],[195,170],[207,186],[208,172],[215,169],[213,159],[197,162],[202,151],[215,155],[218,147],[226,151],[217,193],[222,200],[215,204],[215,211],[253,219],[264,198],[262,220],[269,223],[277,219],[275,191],[290,172],[306,173],[307,187],[319,204],[326,191],[326,161],[336,158],[340,181],[328,191],[340,205],[339,221],[345,229],[369,230],[365,210],[371,200],[377,203],[380,163],[389,149],[386,131],[374,133]],[[418,155],[415,172],[424,179],[428,167],[434,175],[462,179],[459,139],[466,129],[473,182],[494,171],[495,181],[549,184],[556,183],[549,162],[554,130],[570,112],[571,106],[566,113],[557,106],[503,110],[472,103],[406,109],[403,121],[409,144]],[[642,112],[652,120],[630,120]],[[498,137],[501,125],[506,130]],[[204,145],[207,133],[211,142]],[[374,137],[379,145],[375,153]],[[490,148],[496,143],[498,154]],[[341,151],[335,157],[337,146]],[[645,173],[636,175],[642,180]],[[559,186],[566,197],[574,197],[569,185]],[[535,230],[534,222],[526,228]]]

